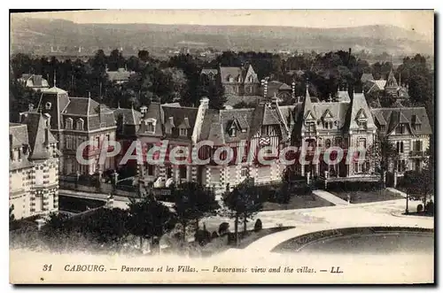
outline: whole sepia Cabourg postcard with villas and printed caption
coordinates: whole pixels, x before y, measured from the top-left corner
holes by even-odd
[[[434,282],[432,10],[10,21],[11,283]]]

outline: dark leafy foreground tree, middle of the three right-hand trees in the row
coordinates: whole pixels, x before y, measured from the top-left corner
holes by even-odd
[[[214,191],[197,182],[184,182],[173,187],[172,195],[175,199],[175,213],[183,227],[183,242],[190,221],[195,220],[198,229],[198,221],[205,216],[216,214],[220,207],[215,200]]]

